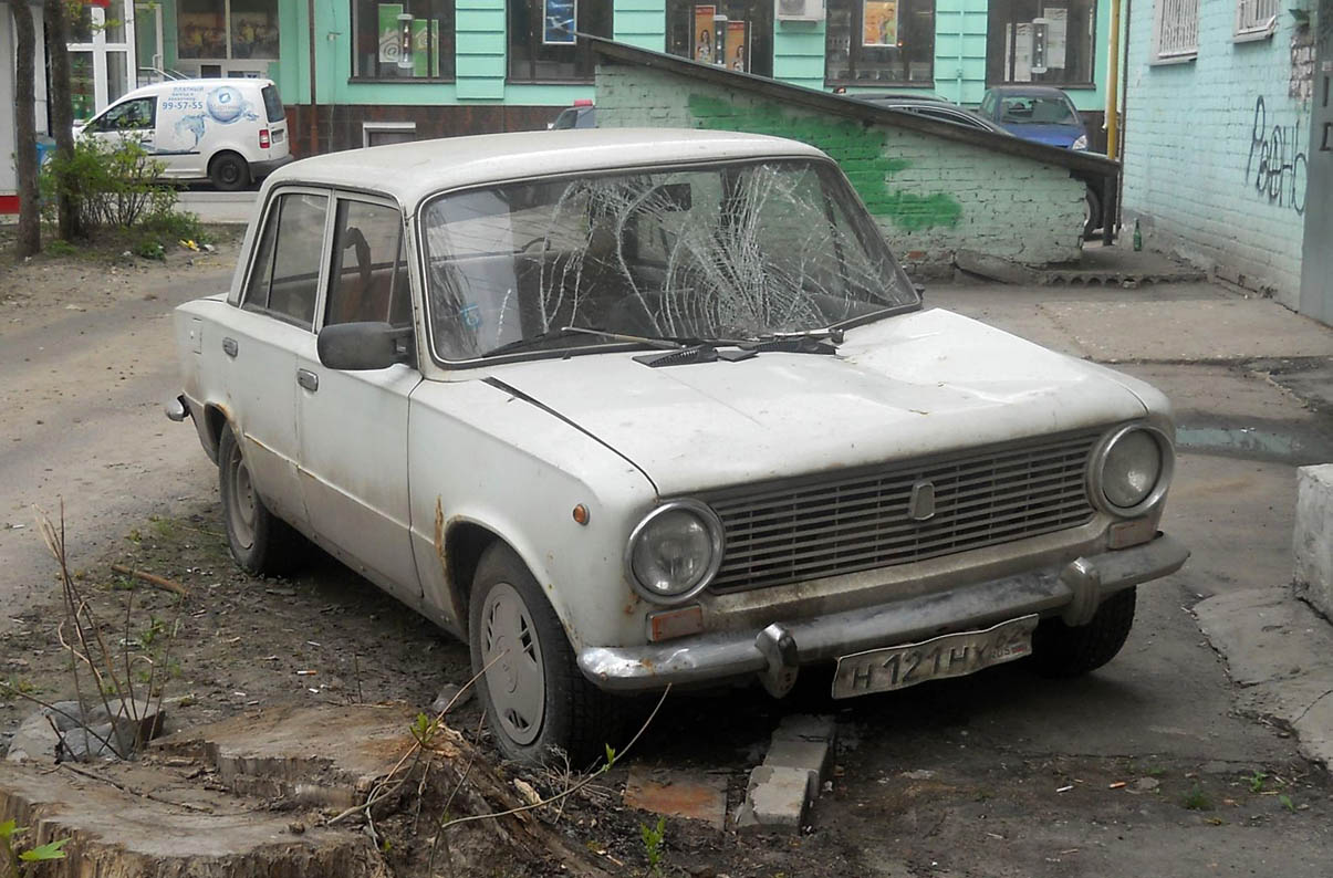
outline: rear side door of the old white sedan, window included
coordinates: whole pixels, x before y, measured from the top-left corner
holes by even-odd
[[[297,477],[296,352],[315,344],[331,200],[320,189],[281,189],[269,199],[240,313],[221,340],[241,452],[268,508],[297,525],[308,518]]]

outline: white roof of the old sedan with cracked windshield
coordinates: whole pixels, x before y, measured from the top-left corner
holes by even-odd
[[[423,199],[444,189],[527,180],[539,175],[773,156],[822,157],[824,153],[784,137],[728,131],[523,131],[416,140],[312,156],[275,171],[265,189],[303,183],[368,189],[389,195],[403,207],[415,209]]]

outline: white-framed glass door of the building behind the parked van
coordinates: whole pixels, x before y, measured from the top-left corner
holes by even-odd
[[[107,0],[80,7],[69,43],[76,120],[91,119],[137,84],[135,4]]]

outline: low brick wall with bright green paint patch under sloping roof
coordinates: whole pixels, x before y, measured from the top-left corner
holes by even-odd
[[[1078,258],[1085,187],[1065,168],[621,64],[599,68],[597,124],[745,131],[818,147],[841,164],[894,254],[922,274],[952,270],[960,249],[1028,265]]]

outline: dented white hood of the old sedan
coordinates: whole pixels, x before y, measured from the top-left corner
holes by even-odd
[[[649,368],[633,354],[497,366],[633,462],[661,496],[1110,424],[1116,373],[946,310],[848,330],[837,356]]]

